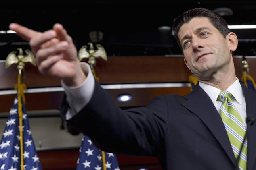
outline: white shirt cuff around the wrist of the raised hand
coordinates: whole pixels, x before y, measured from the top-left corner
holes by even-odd
[[[80,62],[80,65],[86,75],[86,79],[82,84],[76,87],[69,87],[61,80],[61,86],[65,90],[67,103],[70,106],[66,113],[66,120],[71,119],[82,110],[90,102],[94,92],[95,80],[90,65],[85,62]]]

